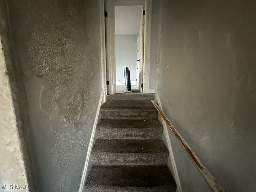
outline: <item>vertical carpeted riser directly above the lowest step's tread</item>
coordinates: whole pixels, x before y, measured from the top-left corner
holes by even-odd
[[[104,157],[104,158],[102,158]],[[165,153],[109,153],[92,154],[94,165],[104,166],[138,166],[166,165],[168,154]]]

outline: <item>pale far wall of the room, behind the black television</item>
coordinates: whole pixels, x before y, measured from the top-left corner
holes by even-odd
[[[116,35],[116,82],[124,82],[124,68],[130,70],[131,83],[136,83],[137,35]]]

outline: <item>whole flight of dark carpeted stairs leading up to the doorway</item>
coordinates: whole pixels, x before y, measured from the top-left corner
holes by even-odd
[[[175,192],[153,94],[114,94],[101,107],[86,192]]]

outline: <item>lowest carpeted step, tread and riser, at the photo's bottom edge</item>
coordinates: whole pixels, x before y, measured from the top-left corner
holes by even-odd
[[[175,192],[167,166],[93,166],[86,192]]]

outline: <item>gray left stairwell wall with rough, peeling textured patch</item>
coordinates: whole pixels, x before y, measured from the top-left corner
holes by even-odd
[[[77,192],[102,90],[99,4],[8,1],[40,192]]]

